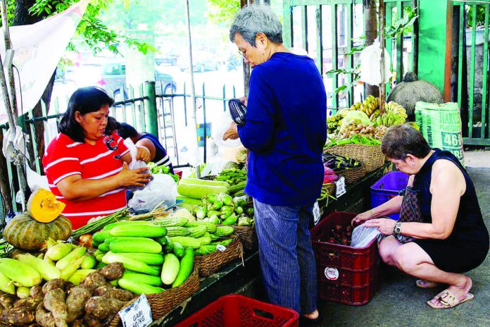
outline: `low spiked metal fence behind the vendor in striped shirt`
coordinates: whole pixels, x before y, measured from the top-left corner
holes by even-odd
[[[179,137],[184,137],[184,128],[191,124],[189,116],[194,108],[191,104],[191,94],[187,93],[185,84],[182,93],[155,94],[154,90],[154,82],[146,82],[145,85],[139,87],[139,94],[144,94],[142,97],[135,97],[132,87],[127,90],[127,93],[122,92],[123,90],[115,90],[113,97],[116,101],[111,107],[109,114],[121,123],[133,125],[134,128],[141,132],[153,132],[161,140],[163,147],[167,149],[175,167],[189,166],[187,161],[183,161],[179,156],[182,145]],[[160,87],[159,90],[163,89]],[[225,85],[223,85],[222,94],[218,97],[206,93],[206,84],[201,86],[201,92],[197,91],[196,88],[195,99],[199,101],[199,123],[196,127],[198,131],[201,131],[201,135],[198,133],[199,151],[205,163],[209,156],[208,137],[211,136],[209,116],[210,114],[215,116],[216,111],[221,113],[227,109],[227,101],[229,100],[227,91],[230,93],[230,90],[227,90]],[[231,95],[236,97],[235,87],[232,87]],[[42,157],[37,155],[38,144],[36,142],[35,126],[38,124],[44,125],[44,140],[45,147],[47,147],[49,142],[58,134],[59,119],[64,112],[64,108],[61,108],[59,103],[60,99],[54,99],[51,102],[51,110],[48,114],[46,105],[42,102],[42,116],[34,117],[32,111],[29,111],[19,120],[23,129],[29,131],[30,142],[27,144],[26,151],[34,154],[27,166],[32,166],[33,170],[39,174],[43,174]],[[7,129],[7,124],[0,125],[2,135]],[[15,194],[19,190],[16,169],[12,163],[7,162],[6,170],[10,189],[9,195],[12,199],[11,208],[13,211],[18,211],[20,205],[15,202]]]

